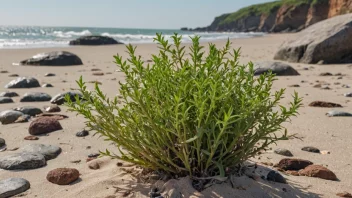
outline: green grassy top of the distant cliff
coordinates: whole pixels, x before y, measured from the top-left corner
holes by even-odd
[[[244,7],[237,12],[224,14],[215,18],[213,23],[224,25],[248,16],[270,14],[277,11],[282,5],[317,4],[328,0],[278,0]]]

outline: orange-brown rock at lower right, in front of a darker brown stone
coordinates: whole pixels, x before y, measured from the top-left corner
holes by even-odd
[[[305,169],[300,170],[299,175],[308,177],[318,177],[326,180],[337,180],[335,173],[320,165],[309,165]]]

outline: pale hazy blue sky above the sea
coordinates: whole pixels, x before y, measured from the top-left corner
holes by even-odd
[[[179,29],[268,0],[5,0],[0,25]]]

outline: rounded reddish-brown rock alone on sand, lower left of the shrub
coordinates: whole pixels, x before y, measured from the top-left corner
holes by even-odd
[[[68,185],[76,181],[79,177],[79,172],[74,168],[57,168],[51,170],[46,179],[54,184],[58,185]]]

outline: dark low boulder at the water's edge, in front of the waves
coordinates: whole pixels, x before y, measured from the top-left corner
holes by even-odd
[[[123,44],[107,36],[82,36],[70,41],[70,45],[115,45]]]

